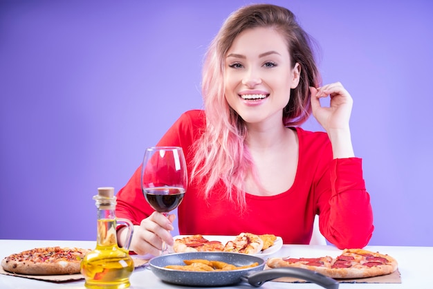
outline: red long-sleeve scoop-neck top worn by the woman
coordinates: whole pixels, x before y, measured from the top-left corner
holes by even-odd
[[[205,129],[203,111],[187,111],[158,142],[158,146],[182,147],[187,169],[192,171],[192,144]],[[360,158],[333,159],[331,142],[323,132],[296,128],[299,160],[290,189],[275,196],[246,193],[246,210],[241,213],[223,198],[222,183],[210,198],[203,198],[202,185],[190,185],[178,207],[180,234],[237,235],[275,234],[284,243],[308,244],[315,215],[320,215],[320,232],[338,248],[363,248],[374,230],[369,194],[362,178]],[[141,168],[117,194],[116,216],[139,225],[152,209],[140,186]]]

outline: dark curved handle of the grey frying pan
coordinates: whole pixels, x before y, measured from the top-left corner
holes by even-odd
[[[243,281],[250,283],[254,287],[259,287],[266,281],[277,279],[279,277],[295,277],[311,283],[316,283],[326,289],[338,289],[338,281],[304,268],[275,268],[254,272],[246,277],[241,277]]]

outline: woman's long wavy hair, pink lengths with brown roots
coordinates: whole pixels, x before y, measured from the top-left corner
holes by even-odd
[[[261,188],[252,156],[246,146],[245,122],[225,100],[225,56],[234,39],[244,30],[272,28],[287,42],[293,67],[300,64],[300,83],[291,89],[291,97],[284,108],[282,122],[286,127],[302,124],[311,113],[309,86],[320,85],[313,55],[313,41],[300,27],[290,10],[270,5],[243,6],[225,20],[212,40],[205,55],[202,74],[202,95],[206,115],[206,128],[195,143],[192,181],[204,185],[207,198],[220,181],[225,195],[245,208],[243,183],[248,173]],[[293,68],[292,67],[292,68]]]

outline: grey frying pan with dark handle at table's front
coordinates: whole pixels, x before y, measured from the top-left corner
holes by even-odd
[[[164,268],[166,265],[185,265],[183,260],[207,259],[223,261],[236,266],[250,265],[257,262],[258,266],[240,270],[216,272],[192,272]],[[149,261],[149,267],[156,276],[168,283],[183,286],[228,286],[248,282],[254,287],[279,277],[295,277],[316,283],[326,289],[337,289],[338,281],[323,274],[303,268],[276,268],[264,270],[264,259],[248,254],[230,252],[189,252],[167,254],[155,257]]]

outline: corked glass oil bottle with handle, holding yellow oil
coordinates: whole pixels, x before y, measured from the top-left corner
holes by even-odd
[[[133,225],[124,219],[116,219],[116,197],[113,187],[98,188],[93,196],[98,207],[98,239],[95,250],[81,261],[81,273],[86,288],[120,289],[130,286],[129,276],[133,271],[133,260],[129,256],[129,244]],[[116,225],[125,224],[129,229],[125,246],[118,246]]]

